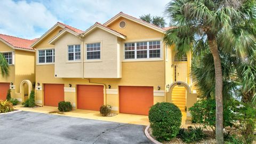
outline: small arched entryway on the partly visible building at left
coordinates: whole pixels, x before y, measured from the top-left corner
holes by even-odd
[[[20,93],[22,101],[26,101],[29,98],[29,94],[33,89],[32,83],[29,80],[24,80],[20,83]]]

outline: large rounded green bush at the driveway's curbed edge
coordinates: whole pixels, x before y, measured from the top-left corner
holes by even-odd
[[[181,111],[173,103],[156,103],[149,110],[152,134],[158,141],[170,141],[179,133]]]

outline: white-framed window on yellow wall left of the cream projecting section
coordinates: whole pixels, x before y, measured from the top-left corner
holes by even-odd
[[[38,63],[53,63],[55,62],[55,50],[38,50]]]

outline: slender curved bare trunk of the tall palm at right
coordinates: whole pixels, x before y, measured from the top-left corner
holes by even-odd
[[[223,140],[223,102],[222,102],[222,86],[223,86],[223,76],[221,69],[220,54],[217,46],[216,39],[209,39],[208,41],[210,51],[214,59],[215,68],[215,101],[216,101],[216,131],[215,139],[217,144],[224,143]]]

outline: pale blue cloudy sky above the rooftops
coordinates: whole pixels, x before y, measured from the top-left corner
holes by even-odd
[[[105,23],[119,12],[139,18],[150,13],[165,17],[170,0],[2,0],[0,34],[27,39],[41,37],[55,23],[86,30],[95,22]]]

